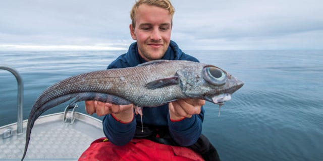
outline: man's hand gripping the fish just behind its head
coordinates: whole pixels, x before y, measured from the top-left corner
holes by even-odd
[[[205,100],[200,99],[182,99],[171,102],[169,103],[170,118],[172,120],[191,118],[194,114],[200,114],[204,104]]]

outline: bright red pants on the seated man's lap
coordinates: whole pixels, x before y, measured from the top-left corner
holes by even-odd
[[[132,139],[128,144],[118,146],[104,139],[93,141],[79,160],[203,160],[186,147],[159,144],[147,139]]]

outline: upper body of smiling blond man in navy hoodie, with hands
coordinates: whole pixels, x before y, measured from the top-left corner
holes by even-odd
[[[129,26],[131,37],[136,42],[131,44],[127,53],[119,56],[107,68],[131,67],[158,59],[197,62],[196,58],[182,52],[177,44],[171,41],[173,15],[174,8],[169,0],[136,2],[131,10],[132,24]],[[141,125],[141,120],[140,116],[135,115],[132,104],[114,105],[86,101],[85,107],[89,114],[105,115],[103,131],[113,144],[126,145],[134,137],[144,137],[165,144],[194,146],[201,136],[204,104],[204,100],[183,99],[159,107],[144,107],[142,111],[144,133],[136,130],[137,122]],[[160,138],[160,133],[156,131],[161,131],[165,139]],[[152,139],[152,134],[157,134],[158,137],[153,136]],[[204,142],[207,144],[205,146],[211,146],[205,139]]]

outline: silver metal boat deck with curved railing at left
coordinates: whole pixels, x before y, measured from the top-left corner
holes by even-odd
[[[17,122],[0,127],[0,160],[20,160],[28,122],[23,120],[23,81],[16,69],[7,65],[0,69],[11,72],[18,82]],[[40,116],[24,160],[78,160],[92,141],[104,137],[102,121],[77,109],[77,104],[68,105],[62,112]]]

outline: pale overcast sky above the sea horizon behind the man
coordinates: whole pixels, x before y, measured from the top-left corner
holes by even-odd
[[[173,0],[185,50],[323,49],[321,0]],[[135,0],[0,1],[0,50],[127,50]]]

